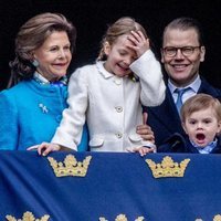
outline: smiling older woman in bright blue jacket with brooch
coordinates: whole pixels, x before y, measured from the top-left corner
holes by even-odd
[[[66,71],[75,39],[75,28],[62,14],[39,14],[21,27],[10,63],[17,85],[0,93],[0,149],[25,150],[51,140],[67,107]],[[84,127],[78,150],[86,149]]]

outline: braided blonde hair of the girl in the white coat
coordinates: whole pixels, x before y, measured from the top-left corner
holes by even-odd
[[[141,31],[141,33],[147,38],[145,29],[130,17],[123,17],[113,23],[106,31],[105,35],[101,42],[101,51],[97,57],[98,61],[105,61],[106,54],[104,53],[104,44],[108,42],[109,45],[116,41],[116,39],[123,34],[129,34],[131,31]]]

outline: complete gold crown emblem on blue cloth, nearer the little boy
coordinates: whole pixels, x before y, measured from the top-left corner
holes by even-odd
[[[164,157],[161,164],[155,164],[151,159],[145,160],[151,169],[155,178],[162,177],[183,177],[187,165],[190,159],[185,159],[180,164],[175,162],[171,157]]]

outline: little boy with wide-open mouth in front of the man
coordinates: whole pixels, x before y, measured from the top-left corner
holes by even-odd
[[[171,136],[158,152],[221,154],[221,103],[207,94],[189,98],[181,107],[186,137]]]

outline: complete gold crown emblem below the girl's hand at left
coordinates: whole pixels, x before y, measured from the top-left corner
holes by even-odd
[[[87,156],[83,161],[77,161],[73,155],[67,155],[64,162],[57,162],[54,158],[48,157],[56,177],[85,177],[92,156]]]

